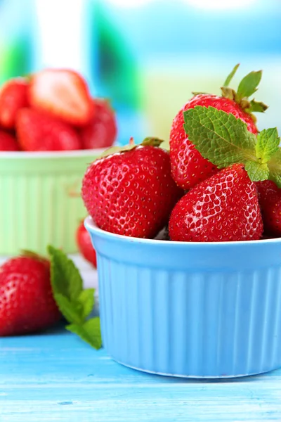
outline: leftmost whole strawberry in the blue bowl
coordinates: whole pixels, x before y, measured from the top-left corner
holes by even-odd
[[[157,148],[159,143],[145,139],[90,165],[81,194],[101,229],[153,238],[165,226],[181,190],[171,178],[169,153]]]

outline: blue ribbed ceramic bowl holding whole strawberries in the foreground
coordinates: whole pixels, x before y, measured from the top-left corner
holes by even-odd
[[[85,222],[98,256],[103,345],[168,376],[227,378],[281,366],[281,239],[183,243]]]

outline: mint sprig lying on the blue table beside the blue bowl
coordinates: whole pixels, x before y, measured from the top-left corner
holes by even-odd
[[[62,250],[48,246],[48,254],[51,261],[53,297],[60,312],[70,323],[65,328],[99,349],[102,344],[100,319],[87,319],[93,310],[95,290],[83,290],[79,270]]]

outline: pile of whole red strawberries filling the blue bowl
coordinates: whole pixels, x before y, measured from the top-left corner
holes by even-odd
[[[159,139],[145,139],[140,146],[131,143],[119,151],[109,150],[89,166],[81,195],[100,229],[155,238],[166,226],[169,240],[196,242],[281,235],[281,189],[264,180],[267,177],[251,180],[239,160],[219,169],[203,158],[184,129],[184,112],[201,106],[203,111],[212,108],[234,115],[244,122],[240,122],[244,136],[249,131],[257,139],[252,113],[267,107],[248,96],[256,91],[261,71],[242,79],[236,93],[228,88],[235,70],[223,85],[222,96],[195,94],[178,112],[171,127],[170,152],[159,148]],[[254,165],[266,166],[255,160]]]

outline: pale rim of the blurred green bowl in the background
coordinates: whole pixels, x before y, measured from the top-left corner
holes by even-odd
[[[5,158],[15,158],[15,160],[32,158],[83,158],[89,155],[98,156],[108,148],[93,148],[72,151],[0,151],[0,160]]]

